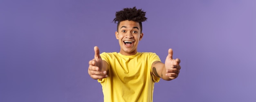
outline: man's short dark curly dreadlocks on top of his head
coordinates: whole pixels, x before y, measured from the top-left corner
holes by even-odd
[[[132,20],[135,22],[139,22],[140,32],[142,32],[142,23],[146,21],[148,18],[145,17],[146,12],[142,11],[141,9],[136,9],[136,7],[133,8],[124,8],[121,11],[116,12],[116,18],[112,22],[118,22],[117,23],[117,31],[118,27],[121,21],[124,20]]]

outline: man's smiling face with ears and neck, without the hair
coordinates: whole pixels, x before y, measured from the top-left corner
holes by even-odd
[[[118,27],[118,32],[115,32],[116,38],[119,41],[120,53],[122,55],[135,55],[139,40],[142,39],[143,33],[140,32],[139,22],[132,20],[121,21]]]

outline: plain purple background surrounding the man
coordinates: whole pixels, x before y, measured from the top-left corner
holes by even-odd
[[[138,51],[182,60],[155,102],[256,102],[256,0],[0,0],[0,102],[103,102],[88,61],[119,51],[112,20],[134,6]]]

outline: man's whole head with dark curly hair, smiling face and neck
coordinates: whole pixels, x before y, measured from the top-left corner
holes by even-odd
[[[119,40],[120,53],[122,55],[135,55],[139,40],[142,39],[142,23],[147,18],[146,12],[141,9],[125,8],[116,12],[116,18],[113,22],[118,22],[116,38]]]

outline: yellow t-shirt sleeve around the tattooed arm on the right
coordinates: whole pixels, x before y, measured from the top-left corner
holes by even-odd
[[[153,74],[151,67],[152,67],[153,62],[155,62],[155,61],[160,61],[161,62],[161,60],[160,60],[159,56],[156,53],[150,53],[149,59],[150,59],[150,61],[149,61],[150,65],[149,66],[150,66],[150,73],[151,73],[151,76],[152,76],[152,80],[154,82],[159,82],[160,78]]]

